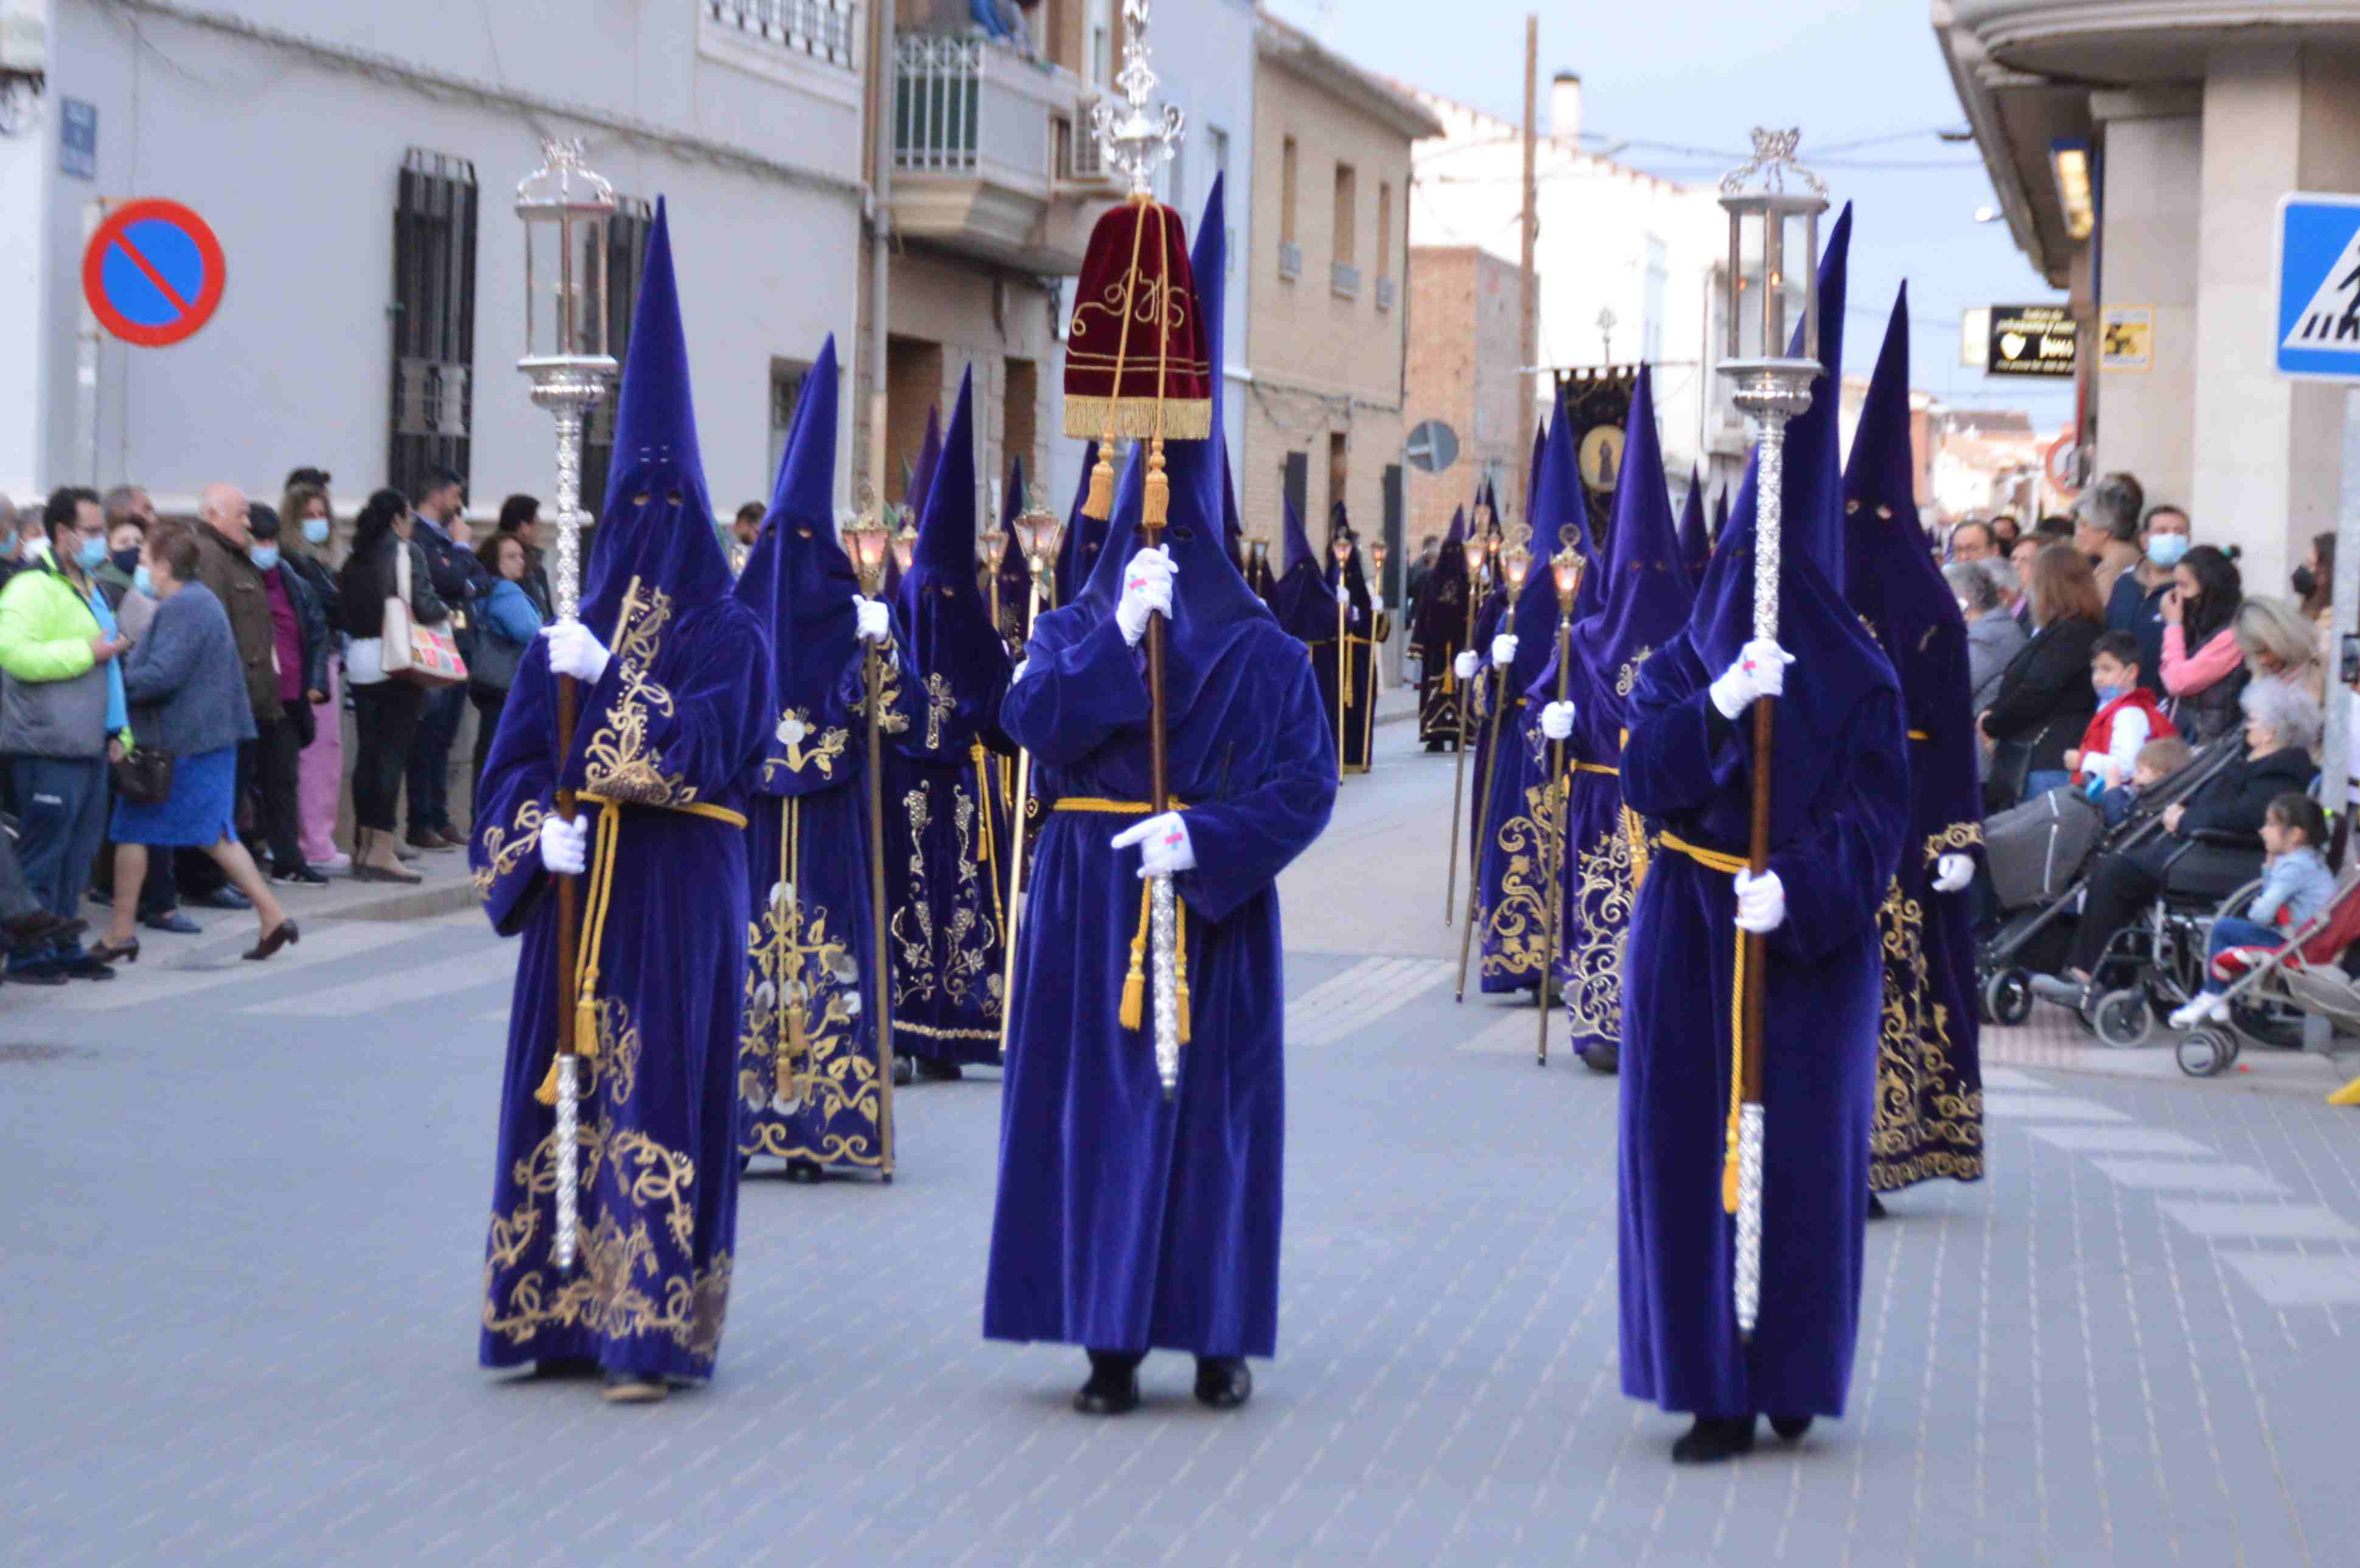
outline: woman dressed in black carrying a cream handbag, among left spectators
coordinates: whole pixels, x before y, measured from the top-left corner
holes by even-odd
[[[359,738],[352,759],[352,875],[356,882],[425,882],[394,849],[394,809],[401,773],[418,740],[427,689],[399,667],[408,648],[387,658],[387,641],[408,641],[413,627],[448,625],[451,611],[434,594],[425,552],[411,542],[418,521],[401,490],[378,490],[361,507],[345,561],[345,681]],[[387,620],[394,625],[387,627]]]

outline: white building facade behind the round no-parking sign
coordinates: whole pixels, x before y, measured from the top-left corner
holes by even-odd
[[[859,349],[866,38],[854,0],[50,0],[45,92],[0,139],[0,488],[175,512],[314,465],[349,512],[437,462],[479,516],[548,500],[512,198],[557,134],[628,198],[623,321],[668,198],[715,505],[767,495],[802,368]],[[175,347],[83,307],[85,236],[130,198],[222,243],[219,311]]]

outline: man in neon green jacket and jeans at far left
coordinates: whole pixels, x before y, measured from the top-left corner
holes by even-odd
[[[78,920],[106,832],[106,738],[130,724],[116,630],[90,568],[106,559],[97,490],[68,486],[42,507],[42,538],[0,587],[0,755],[17,785],[17,858],[45,910]],[[113,979],[78,936],[19,950],[9,976]]]

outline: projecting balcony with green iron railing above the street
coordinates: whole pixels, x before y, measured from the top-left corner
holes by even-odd
[[[1090,203],[1116,196],[1083,83],[972,35],[894,35],[892,219],[906,238],[1081,271]]]

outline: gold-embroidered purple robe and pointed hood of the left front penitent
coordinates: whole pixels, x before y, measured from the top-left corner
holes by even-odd
[[[729,597],[696,455],[670,226],[656,207],[616,410],[614,479],[581,620],[609,648],[559,766],[548,644],[526,651],[477,792],[472,865],[522,936],[479,1358],[588,1358],[710,1377],[736,1238],[736,1045],[746,976],[746,780],[769,719],[769,634]],[[592,821],[583,981],[581,1250],[552,1257],[557,1132],[536,1089],[557,1035],[557,898],[540,832],[557,788]]]

